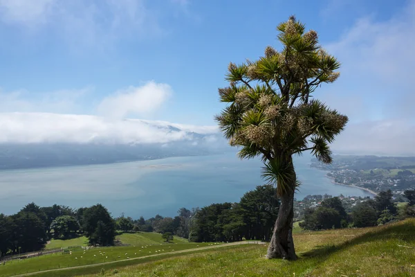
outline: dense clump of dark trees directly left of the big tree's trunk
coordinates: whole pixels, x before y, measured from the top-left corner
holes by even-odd
[[[270,240],[277,219],[276,188],[257,186],[239,203],[212,204],[200,209],[190,222],[192,242]]]

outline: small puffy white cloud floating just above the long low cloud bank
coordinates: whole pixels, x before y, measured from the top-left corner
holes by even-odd
[[[141,87],[121,89],[104,98],[98,105],[98,114],[113,118],[149,114],[160,108],[171,95],[172,88],[168,84],[147,82]]]

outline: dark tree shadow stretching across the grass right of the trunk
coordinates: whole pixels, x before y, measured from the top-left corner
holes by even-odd
[[[349,249],[358,244],[396,238],[407,243],[415,242],[415,220],[406,220],[405,222],[378,226],[373,231],[357,235],[356,238],[338,245],[320,245],[315,247],[315,249],[302,253],[300,258],[319,258],[326,260],[331,254]]]

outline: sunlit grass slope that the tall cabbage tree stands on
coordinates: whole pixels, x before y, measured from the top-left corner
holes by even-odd
[[[295,246],[295,262],[266,260],[267,246],[251,244],[118,268],[117,274],[107,268],[104,275],[415,276],[415,219],[366,229],[297,233]]]

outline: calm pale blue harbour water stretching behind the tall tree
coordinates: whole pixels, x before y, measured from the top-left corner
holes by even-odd
[[[306,195],[371,196],[365,190],[332,184],[326,172],[308,166],[310,157],[295,159]],[[101,203],[118,216],[174,216],[178,208],[237,202],[243,193],[264,184],[261,161],[241,161],[234,153],[154,161],[0,171],[0,213],[16,213],[35,202],[78,208]]]

